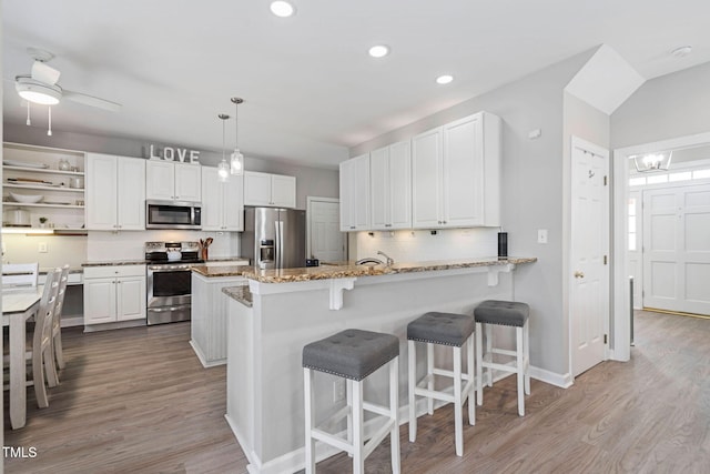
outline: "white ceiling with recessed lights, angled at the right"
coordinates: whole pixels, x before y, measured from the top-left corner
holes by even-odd
[[[602,43],[646,79],[710,60],[700,0],[293,1],[284,19],[267,0],[7,0],[3,119],[26,121],[12,80],[34,47],[55,54],[63,88],[123,105],[63,100],[54,130],[220,151],[217,114],[241,97],[246,155],[334,168],[349,147]],[[371,58],[377,43],[390,54]],[[47,127],[43,107],[32,117]],[[233,119],[226,130],[233,148]]]

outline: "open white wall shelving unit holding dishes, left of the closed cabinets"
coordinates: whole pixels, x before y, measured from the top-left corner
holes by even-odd
[[[83,231],[84,152],[20,143],[3,143],[2,151],[3,226]]]

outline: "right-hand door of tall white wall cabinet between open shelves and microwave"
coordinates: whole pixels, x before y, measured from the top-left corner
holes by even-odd
[[[123,231],[145,230],[145,160],[116,158],[118,226]]]

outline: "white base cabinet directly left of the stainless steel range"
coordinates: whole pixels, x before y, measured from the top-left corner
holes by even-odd
[[[84,325],[140,319],[145,319],[145,265],[84,269]]]

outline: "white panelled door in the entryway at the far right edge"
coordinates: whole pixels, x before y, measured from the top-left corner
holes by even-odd
[[[643,191],[643,306],[710,315],[710,184]]]

